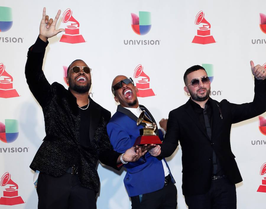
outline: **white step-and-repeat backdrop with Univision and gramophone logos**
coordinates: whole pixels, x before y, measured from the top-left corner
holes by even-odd
[[[258,1],[12,1],[0,2],[0,207],[37,208],[29,165],[45,137],[42,109],[31,94],[24,69],[28,48],[39,34],[43,7],[65,32],[49,39],[43,62],[47,80],[68,88],[67,66],[84,60],[92,68],[90,96],[115,113],[111,93],[116,75],[132,77],[139,103],[157,122],[188,99],[183,75],[205,67],[211,97],[232,103],[253,100],[250,60],[266,68],[266,2]],[[193,129],[193,125],[191,129]],[[243,182],[238,208],[265,208],[266,114],[233,124],[231,147]],[[167,159],[181,191],[181,147]],[[120,172],[101,164],[98,208],[131,208]],[[197,176],[195,176],[197,178]],[[200,179],[199,179],[200,181]],[[141,184],[141,182],[140,182]],[[60,191],[58,191],[60,192]]]

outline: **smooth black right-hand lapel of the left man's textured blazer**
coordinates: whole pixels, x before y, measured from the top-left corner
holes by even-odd
[[[90,97],[90,141],[93,140],[93,136],[101,116],[101,108]]]

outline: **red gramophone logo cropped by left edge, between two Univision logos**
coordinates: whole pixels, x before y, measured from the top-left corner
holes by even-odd
[[[0,97],[11,98],[20,96],[16,89],[13,89],[13,78],[5,71],[5,65],[0,63]]]

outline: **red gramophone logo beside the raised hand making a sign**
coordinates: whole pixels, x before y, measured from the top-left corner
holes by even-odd
[[[85,42],[83,36],[80,34],[80,23],[72,16],[72,10],[67,9],[62,17],[62,22],[74,22],[65,28],[65,34],[62,35],[60,42],[65,43],[83,43]]]

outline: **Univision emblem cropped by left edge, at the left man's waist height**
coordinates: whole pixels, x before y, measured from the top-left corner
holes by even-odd
[[[0,140],[2,142],[14,142],[17,139],[18,135],[18,120],[5,119],[5,124],[0,122]]]

